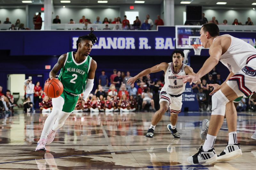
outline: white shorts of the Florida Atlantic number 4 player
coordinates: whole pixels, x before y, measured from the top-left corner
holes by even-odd
[[[164,89],[162,88],[159,98],[160,98],[159,103],[161,103],[161,101],[166,101],[169,103],[171,113],[173,114],[180,113],[181,106],[182,106],[182,95],[180,95],[179,97],[172,97],[170,94],[165,92]]]

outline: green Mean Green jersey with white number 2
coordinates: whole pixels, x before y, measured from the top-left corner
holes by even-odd
[[[85,90],[92,57],[89,55],[82,63],[76,63],[74,52],[68,52],[64,66],[60,70],[58,79],[63,84],[64,91],[81,94]]]

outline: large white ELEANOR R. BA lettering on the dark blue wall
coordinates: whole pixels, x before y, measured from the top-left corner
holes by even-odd
[[[73,37],[73,49],[76,49],[78,37]],[[138,42],[138,43],[135,43]],[[174,49],[175,38],[155,38],[154,49]],[[99,37],[93,49],[151,49],[148,38],[145,37]]]

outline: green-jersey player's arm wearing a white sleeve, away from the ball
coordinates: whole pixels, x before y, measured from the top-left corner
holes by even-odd
[[[90,92],[92,91],[96,69],[97,69],[97,63],[96,61],[92,60],[90,70],[88,72],[88,78],[86,81],[85,90],[83,92],[83,99],[77,103],[75,108],[76,110],[81,110],[84,107],[85,100],[87,100]]]

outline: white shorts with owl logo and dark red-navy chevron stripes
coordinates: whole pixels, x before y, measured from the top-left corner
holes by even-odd
[[[236,92],[237,96],[250,96],[256,91],[256,57],[250,60],[248,57],[246,65],[227,84]]]

